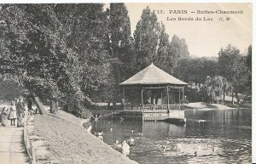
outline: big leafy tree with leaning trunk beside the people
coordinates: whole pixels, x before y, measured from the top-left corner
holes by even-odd
[[[20,84],[35,97],[43,114],[38,96],[58,100],[70,95],[69,99],[76,100],[73,105],[84,99],[90,102],[79,84],[84,72],[80,56],[67,47],[66,28],[54,9],[54,4],[11,4],[1,8],[1,20],[6,25],[1,33],[4,51],[0,61],[15,70]]]

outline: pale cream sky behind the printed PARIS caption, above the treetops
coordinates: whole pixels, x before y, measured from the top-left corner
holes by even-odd
[[[107,5],[108,6],[108,5]],[[247,48],[253,42],[253,6],[251,3],[125,3],[131,20],[131,33],[135,31],[138,20],[147,6],[151,10],[162,10],[157,14],[159,21],[166,26],[169,40],[175,34],[183,37],[189,47],[190,55],[198,57],[218,57],[220,48],[229,44],[240,49],[241,54],[247,53]],[[187,14],[170,14],[170,10],[187,10]],[[241,11],[242,14],[196,14],[201,11]],[[176,20],[167,20],[175,18]],[[178,17],[194,20],[178,20]],[[195,20],[196,17],[213,20]],[[226,20],[226,18],[230,20]],[[219,20],[219,19],[224,20]]]

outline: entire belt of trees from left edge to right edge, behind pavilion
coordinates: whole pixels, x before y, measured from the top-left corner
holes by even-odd
[[[218,60],[192,58],[185,39],[174,35],[170,42],[150,8],[143,9],[132,38],[125,4],[111,3],[106,11],[103,5],[1,4],[1,78],[35,96],[64,101],[77,113],[93,101],[120,101],[119,82],[151,62],[190,82],[192,101],[224,99],[230,84],[236,94],[250,93],[251,46],[247,57],[229,45]]]

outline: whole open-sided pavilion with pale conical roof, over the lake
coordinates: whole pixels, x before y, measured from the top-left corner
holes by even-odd
[[[180,109],[181,100],[184,99],[184,87],[188,83],[182,82],[181,80],[175,78],[174,76],[162,71],[160,68],[156,67],[153,63],[148,65],[142,71],[139,71],[136,75],[131,76],[125,82],[119,83],[123,88],[123,103],[125,110],[177,110]],[[125,90],[136,88],[140,90],[141,93],[141,105],[136,106],[136,108],[129,108],[125,106]],[[149,103],[144,105],[143,93],[146,90],[154,91],[154,89],[161,89],[161,103]],[[170,103],[170,91],[173,89],[178,90],[178,102],[173,105]],[[167,102],[163,103],[163,91],[166,93]],[[183,102],[182,102],[183,103]]]

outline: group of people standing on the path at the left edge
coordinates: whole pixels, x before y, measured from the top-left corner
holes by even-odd
[[[19,99],[13,100],[9,107],[4,106],[1,113],[1,125],[6,127],[9,125],[9,120],[11,121],[11,126],[16,126],[15,121],[17,119],[17,127],[23,127],[24,111],[26,110],[26,105],[23,101],[23,97],[20,96]]]

